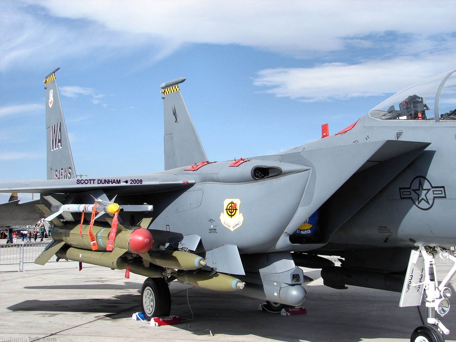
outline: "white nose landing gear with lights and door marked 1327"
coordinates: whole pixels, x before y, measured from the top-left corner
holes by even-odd
[[[435,269],[436,255],[440,255],[441,259],[453,261],[453,267],[440,285]],[[417,327],[410,337],[410,342],[445,342],[442,333],[448,335],[450,331],[435,317],[435,312],[443,317],[450,311],[448,299],[451,297],[451,290],[446,285],[455,273],[454,251],[429,246],[412,250],[399,306],[420,306],[424,294],[428,310],[428,325]]]

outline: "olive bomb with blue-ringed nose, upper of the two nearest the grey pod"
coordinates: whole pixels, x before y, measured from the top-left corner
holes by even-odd
[[[150,262],[170,269],[199,269],[206,266],[206,260],[197,254],[179,250],[164,250],[149,254]]]

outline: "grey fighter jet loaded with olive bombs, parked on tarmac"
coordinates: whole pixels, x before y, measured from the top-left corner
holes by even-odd
[[[323,125],[320,140],[233,161],[209,161],[177,78],[161,84],[165,171],[101,178],[76,177],[54,71],[44,80],[47,180],[0,184],[0,192],[41,193],[36,212],[3,204],[0,224],[45,217],[53,225],[37,264],[56,254],[145,275],[148,320],[170,314],[172,280],[238,291],[270,311],[300,306],[301,266],[321,269],[336,289],[401,292],[400,306],[424,297],[428,324],[411,340],[443,341],[449,331],[437,315],[450,308],[456,267],[439,283],[435,257],[456,263],[455,71],[334,135]]]

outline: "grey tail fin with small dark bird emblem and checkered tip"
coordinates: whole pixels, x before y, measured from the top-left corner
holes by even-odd
[[[206,161],[198,133],[179,90],[185,78],[162,83],[165,121],[165,170]]]

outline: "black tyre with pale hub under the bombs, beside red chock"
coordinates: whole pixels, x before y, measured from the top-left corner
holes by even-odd
[[[147,278],[141,289],[141,303],[146,321],[152,317],[169,316],[171,295],[163,278]]]

